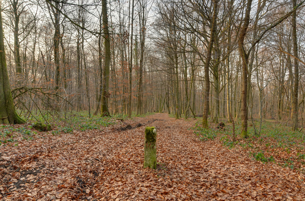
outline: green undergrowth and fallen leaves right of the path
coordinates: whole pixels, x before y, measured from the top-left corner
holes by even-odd
[[[200,140],[219,140],[228,149],[249,153],[249,157],[263,163],[275,163],[287,168],[305,172],[305,141],[302,141],[303,132],[293,132],[291,127],[279,126],[275,122],[264,121],[260,136],[254,134],[252,123],[248,123],[248,138],[241,138],[241,125],[235,123],[235,139],[232,141],[232,124],[227,120],[224,129],[217,129],[217,125],[210,124],[209,129],[201,127],[202,118],[191,129]],[[259,122],[255,121],[258,132]]]

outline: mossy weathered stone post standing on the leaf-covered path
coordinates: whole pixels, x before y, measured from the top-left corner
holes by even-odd
[[[145,128],[144,168],[157,168],[157,130],[155,127]]]

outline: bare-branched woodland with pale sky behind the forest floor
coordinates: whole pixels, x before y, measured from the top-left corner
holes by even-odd
[[[2,21],[25,119],[167,112],[303,128],[303,1],[4,0]]]

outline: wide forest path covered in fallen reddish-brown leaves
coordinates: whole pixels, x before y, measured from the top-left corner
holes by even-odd
[[[120,123],[0,147],[0,200],[305,200],[304,175],[200,141],[188,130],[196,120],[126,121],[134,129]],[[142,168],[145,126],[157,129],[157,170]]]

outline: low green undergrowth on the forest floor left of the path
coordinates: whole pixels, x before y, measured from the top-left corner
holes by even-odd
[[[148,116],[153,113],[146,113],[142,115],[132,114],[135,116]],[[27,124],[21,125],[0,125],[0,145],[18,145],[18,140],[32,140],[34,136],[44,137],[47,133],[52,135],[73,134],[74,131],[89,131],[89,130],[103,130],[104,127],[114,125],[119,121],[117,119],[125,120],[126,115],[107,116],[91,116],[89,118],[87,111],[69,113],[45,112],[44,115],[37,114],[26,118],[26,114],[21,113],[21,116],[27,120]],[[51,126],[51,131],[35,130],[34,125],[45,124]],[[21,136],[21,138],[20,138]]]

